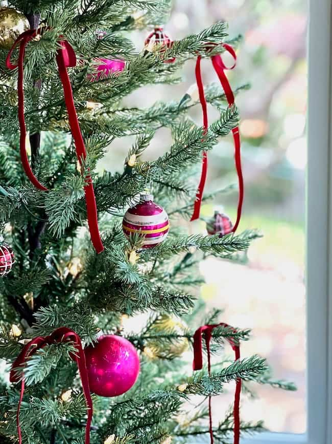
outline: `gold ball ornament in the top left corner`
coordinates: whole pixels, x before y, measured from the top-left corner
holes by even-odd
[[[21,12],[7,6],[0,8],[0,48],[10,49],[16,38],[30,28],[28,19]]]

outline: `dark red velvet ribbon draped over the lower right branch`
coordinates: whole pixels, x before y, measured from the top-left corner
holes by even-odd
[[[201,370],[203,368],[203,350],[202,350],[202,334],[204,333],[206,351],[207,351],[207,369],[208,373],[211,374],[211,352],[210,352],[210,341],[212,337],[212,330],[216,327],[230,327],[224,322],[220,324],[203,325],[198,328],[194,334],[194,362],[193,369]],[[236,331],[233,329],[233,331]],[[227,341],[234,350],[235,361],[240,359],[240,345],[233,337],[228,337]],[[233,408],[233,418],[234,418],[234,444],[239,444],[240,442],[240,394],[241,394],[241,378],[236,379],[235,385],[235,395],[234,395],[234,408]],[[209,434],[210,442],[214,443],[213,429],[212,429],[212,410],[211,410],[211,396],[209,396]]]

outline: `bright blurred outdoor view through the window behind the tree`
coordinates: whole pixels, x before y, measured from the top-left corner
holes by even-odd
[[[243,355],[267,357],[274,375],[296,383],[297,392],[258,387],[258,399],[243,404],[244,419],[262,419],[275,432],[303,433],[305,408],[305,286],[304,209],[306,166],[306,22],[304,0],[177,0],[165,30],[173,39],[198,32],[216,20],[229,22],[229,34],[243,34],[238,65],[228,72],[233,87],[251,83],[236,99],[241,112],[243,168],[246,183],[241,229],[264,233],[249,250],[249,265],[217,259],[201,264],[207,304],[225,309],[224,321],[252,328],[253,339]],[[159,24],[156,24],[159,25]],[[135,36],[141,48],[144,35]],[[156,100],[179,100],[194,83],[195,62],[183,70],[184,83],[141,88],[127,99],[147,107]],[[208,60],[202,62],[205,83],[217,81]],[[217,112],[209,110],[210,121]],[[201,110],[191,112],[201,123]],[[112,143],[103,161],[106,170],[121,171],[131,144]],[[148,150],[157,157],[170,146],[168,131],[160,130]],[[236,183],[232,139],[223,139],[209,154],[207,192]],[[210,216],[219,205],[235,219],[237,192],[219,196],[205,206]],[[205,224],[199,227],[205,232]],[[223,417],[231,396],[214,399],[215,420]]]

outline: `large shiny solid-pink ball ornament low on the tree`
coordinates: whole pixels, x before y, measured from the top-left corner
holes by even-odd
[[[84,350],[90,390],[100,396],[118,396],[136,382],[139,357],[122,336],[106,334]]]

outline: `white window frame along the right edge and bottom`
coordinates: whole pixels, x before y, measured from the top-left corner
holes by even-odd
[[[332,444],[331,0],[309,5],[307,432],[263,433],[241,444]]]

